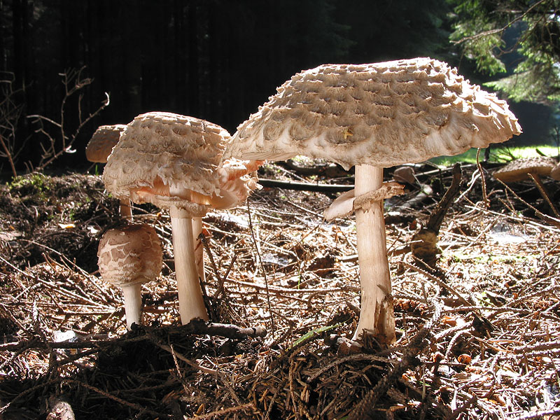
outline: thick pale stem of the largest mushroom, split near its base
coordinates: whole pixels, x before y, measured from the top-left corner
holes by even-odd
[[[383,168],[356,165],[355,195],[377,190],[383,183]],[[391,274],[387,259],[383,200],[370,209],[356,210],[356,236],[360,265],[361,312],[353,339],[364,331],[380,344],[395,342],[395,316],[391,297]]]

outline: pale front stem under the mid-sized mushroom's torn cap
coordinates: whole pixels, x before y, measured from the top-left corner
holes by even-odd
[[[173,195],[181,195],[181,188],[169,188]],[[175,259],[175,276],[179,293],[179,314],[183,325],[192,319],[208,320],[202,290],[198,280],[193,241],[193,221],[185,209],[172,206],[169,209],[173,235],[173,254]]]

